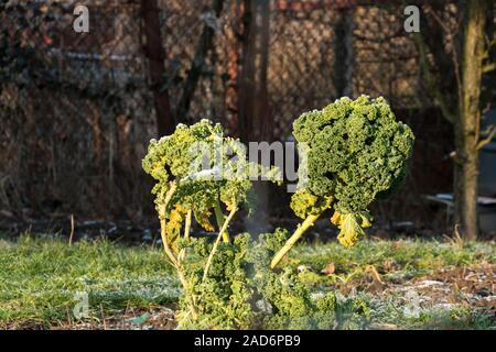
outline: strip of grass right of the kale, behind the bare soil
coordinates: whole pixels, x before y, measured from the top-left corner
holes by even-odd
[[[385,279],[401,282],[446,266],[495,263],[496,250],[489,243],[467,243],[463,248],[435,240],[363,241],[353,249],[337,242],[296,246],[291,254],[294,265],[316,271],[333,263],[334,278],[362,277],[374,265]]]

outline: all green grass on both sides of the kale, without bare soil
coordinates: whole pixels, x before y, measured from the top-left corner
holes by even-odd
[[[302,278],[315,290],[336,283],[354,285],[370,265],[385,282],[406,280],[441,267],[495,263],[490,243],[463,248],[436,241],[366,241],[353,249],[337,243],[301,244],[289,263],[308,267]],[[330,263],[335,273],[320,274]],[[77,293],[87,293],[89,320],[128,308],[153,309],[173,305],[179,283],[160,249],[123,246],[107,240],[82,241],[72,246],[56,237],[22,235],[15,242],[0,240],[0,328],[35,324],[50,328],[74,321]],[[494,317],[466,306],[405,309],[401,294],[380,297],[365,290],[341,299],[357,299],[366,306],[371,323],[399,328],[495,328]]]

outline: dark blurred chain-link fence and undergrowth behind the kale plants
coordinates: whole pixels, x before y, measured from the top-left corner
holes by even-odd
[[[88,33],[73,30],[77,3],[89,9]],[[431,21],[424,32],[431,40],[459,23],[460,1],[410,3]],[[406,186],[373,206],[373,233],[442,235],[453,227],[453,128],[421,77],[414,33],[403,28],[405,1],[47,0],[0,7],[4,232],[67,233],[74,217],[82,235],[147,235],[155,223],[152,183],[141,169],[150,139],[207,118],[244,141],[289,141],[302,112],[362,94],[386,97],[417,136]],[[494,31],[494,7],[488,19]],[[493,102],[495,81],[484,82]],[[490,107],[485,113],[496,122]],[[481,163],[479,190],[490,200],[495,142],[481,152]],[[285,187],[269,190],[271,224],[296,221],[289,197]],[[490,238],[495,209],[490,201],[486,208],[481,227]]]

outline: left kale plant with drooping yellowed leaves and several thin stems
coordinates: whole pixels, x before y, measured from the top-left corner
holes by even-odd
[[[245,311],[249,311],[245,273],[229,255],[240,240],[231,244],[227,228],[241,207],[250,208],[250,178],[262,175],[277,182],[281,178],[279,170],[247,162],[242,144],[224,136],[220,124],[208,120],[191,127],[179,124],[173,134],[152,140],[142,166],[157,182],[152,193],[163,248],[183,286],[181,324],[202,326],[205,321],[217,327],[217,320],[211,319],[217,317],[223,318],[223,327],[248,327],[242,322]],[[213,213],[218,230],[214,243],[191,239],[192,217],[207,231],[214,231],[209,221]],[[187,261],[188,254],[196,255],[196,261]],[[227,296],[222,294],[226,289]],[[226,297],[233,297],[233,301]],[[208,309],[214,309],[215,315],[207,314]]]

